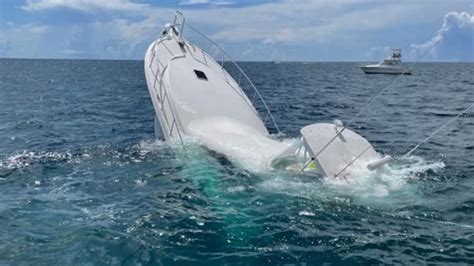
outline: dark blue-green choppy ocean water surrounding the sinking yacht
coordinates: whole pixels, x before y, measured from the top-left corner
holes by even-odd
[[[242,63],[284,141],[395,77]],[[351,129],[395,161],[351,180],[253,173],[155,140],[141,61],[0,60],[0,264],[474,264],[474,63],[421,63]]]

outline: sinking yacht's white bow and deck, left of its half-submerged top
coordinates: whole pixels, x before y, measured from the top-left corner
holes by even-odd
[[[258,112],[230,74],[172,30],[148,48],[145,75],[167,142],[192,137],[230,159],[254,158],[259,161],[251,167],[256,171],[262,164],[269,166],[287,147],[269,137]]]

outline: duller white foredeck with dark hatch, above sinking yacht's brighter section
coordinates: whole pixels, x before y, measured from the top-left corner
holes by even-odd
[[[164,139],[178,132],[190,135],[191,122],[213,116],[234,119],[267,135],[258,112],[234,79],[199,47],[178,38],[159,39],[145,56],[148,89]]]

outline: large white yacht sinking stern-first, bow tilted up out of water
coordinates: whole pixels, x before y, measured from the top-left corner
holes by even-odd
[[[185,26],[207,40],[223,56],[222,61],[218,63],[185,39]],[[235,79],[224,64],[237,70]],[[252,81],[217,44],[185,24],[180,12],[149,46],[145,75],[155,109],[155,130],[167,142],[177,140],[184,147],[184,139],[191,137],[231,160],[257,154],[269,168],[328,177],[345,175],[355,160],[369,169],[389,160],[339,121],[303,127],[302,137],[291,146],[272,138],[266,124],[277,132],[279,127]],[[244,83],[251,89],[252,100],[242,89]],[[264,119],[253,102],[263,106]]]

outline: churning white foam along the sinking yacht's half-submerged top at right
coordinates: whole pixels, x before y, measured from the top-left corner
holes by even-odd
[[[421,157],[394,160],[376,171],[365,163],[355,163],[347,169],[346,178],[308,178],[296,175],[269,175],[258,187],[267,192],[304,198],[349,197],[352,200],[376,204],[406,202],[418,199],[416,182],[428,170],[438,172],[443,162],[429,162]],[[375,199],[375,200],[374,200]]]

